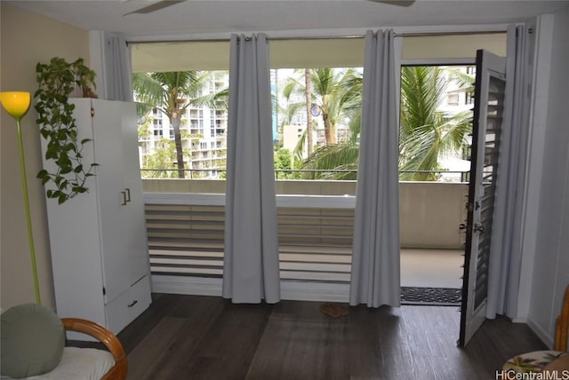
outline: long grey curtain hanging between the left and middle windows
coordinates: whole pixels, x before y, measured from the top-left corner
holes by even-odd
[[[223,297],[280,301],[267,36],[231,36]]]

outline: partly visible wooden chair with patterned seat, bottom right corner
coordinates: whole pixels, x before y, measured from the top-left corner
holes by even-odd
[[[535,372],[539,373],[549,363],[558,358],[569,355],[567,352],[567,337],[569,335],[569,285],[565,288],[561,313],[557,316],[555,344],[553,350],[526,352],[517,355],[504,364],[505,371],[515,373]],[[513,377],[512,377],[513,378]]]

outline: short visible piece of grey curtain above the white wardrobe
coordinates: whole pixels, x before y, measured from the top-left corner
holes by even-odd
[[[132,101],[131,49],[123,36],[104,34],[106,99]]]

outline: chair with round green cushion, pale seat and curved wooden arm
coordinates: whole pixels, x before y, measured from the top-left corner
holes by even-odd
[[[52,309],[35,304],[12,306],[2,313],[1,320],[3,380],[10,376],[50,380],[126,379],[128,365],[123,345],[98,323],[59,318]],[[65,331],[92,336],[96,346],[104,347],[74,347],[66,340]]]

